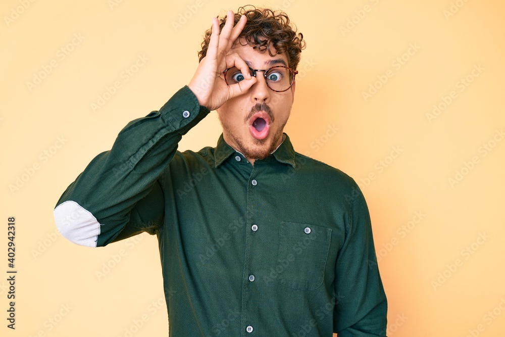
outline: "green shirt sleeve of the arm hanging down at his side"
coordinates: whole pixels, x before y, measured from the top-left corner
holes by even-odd
[[[338,337],[384,337],[387,300],[375,255],[370,214],[358,186],[335,264],[333,330]]]

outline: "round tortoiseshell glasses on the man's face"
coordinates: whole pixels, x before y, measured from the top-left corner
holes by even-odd
[[[275,66],[268,69],[248,68],[249,74],[255,77],[257,77],[257,71],[263,71],[263,77],[265,77],[267,86],[270,88],[270,90],[275,92],[283,92],[289,89],[294,83],[294,76],[298,73],[296,70],[284,66]],[[228,85],[238,83],[245,79],[242,71],[237,67],[228,68],[223,71],[223,74],[226,84]]]

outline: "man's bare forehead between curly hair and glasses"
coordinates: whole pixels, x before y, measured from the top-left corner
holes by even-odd
[[[260,52],[258,49],[254,49],[249,44],[245,44],[245,40],[241,40],[239,43],[236,40],[232,48],[227,54],[237,53],[238,56],[251,68],[265,67],[265,66],[286,66],[288,67],[288,61],[285,53],[276,54],[275,56],[270,56],[267,50]],[[272,43],[270,44],[270,49],[275,52]]]

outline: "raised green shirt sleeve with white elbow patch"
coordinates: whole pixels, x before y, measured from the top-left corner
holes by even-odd
[[[54,209],[58,230],[71,242],[105,246],[163,221],[163,170],[178,142],[209,114],[188,86],[160,109],[128,123],[110,151],[97,155],[67,187]]]

